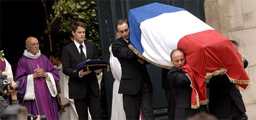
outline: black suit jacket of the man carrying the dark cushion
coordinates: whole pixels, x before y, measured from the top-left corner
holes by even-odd
[[[86,58],[97,59],[98,53],[94,43],[84,41],[86,47]],[[79,71],[76,71],[76,66],[83,59],[74,42],[62,48],[62,66],[63,73],[69,76],[69,97],[74,99],[84,98],[86,96],[87,84],[90,84],[93,93],[99,96],[99,85],[96,73],[92,71],[90,74],[79,77]]]

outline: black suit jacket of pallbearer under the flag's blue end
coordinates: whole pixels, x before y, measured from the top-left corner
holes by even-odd
[[[112,44],[112,53],[114,57],[117,57],[122,68],[118,93],[126,95],[137,94],[142,79],[150,84],[150,90],[152,91],[152,83],[149,73],[147,73],[146,65],[138,62],[137,55],[132,52],[128,45],[122,37],[118,38]]]

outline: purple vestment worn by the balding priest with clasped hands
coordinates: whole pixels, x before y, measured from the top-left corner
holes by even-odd
[[[29,84],[28,75],[34,73],[33,70],[37,69],[37,65],[44,69],[44,72],[52,74],[57,88],[59,81],[58,70],[53,67],[48,58],[46,58],[43,54],[41,54],[41,56],[37,59],[31,59],[23,55],[22,58],[18,61],[15,75],[15,81],[21,81],[21,90],[18,91],[17,95],[19,103],[28,109],[29,114],[46,115],[48,120],[59,119],[56,97],[51,96],[45,78],[37,78],[33,80],[35,99],[24,100],[26,87],[27,84]]]

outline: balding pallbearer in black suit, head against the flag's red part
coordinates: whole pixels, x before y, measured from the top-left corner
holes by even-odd
[[[181,69],[186,63],[183,51],[178,49],[173,50],[170,57],[173,67],[167,74],[167,81],[169,81],[175,96],[175,119],[186,119],[196,115],[200,111],[207,112],[206,105],[200,105],[199,109],[191,108],[191,82],[186,76],[186,73]]]

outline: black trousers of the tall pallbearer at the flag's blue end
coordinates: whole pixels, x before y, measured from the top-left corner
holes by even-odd
[[[142,80],[138,94],[123,94],[126,119],[139,119],[140,108],[142,109],[143,119],[154,119],[152,91],[149,87],[149,84]]]

